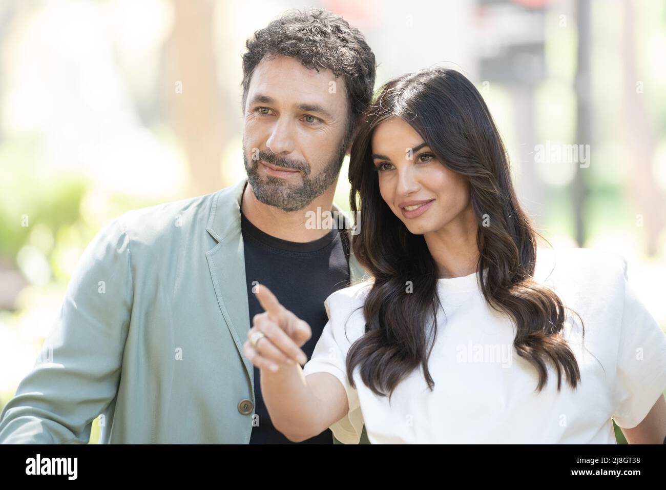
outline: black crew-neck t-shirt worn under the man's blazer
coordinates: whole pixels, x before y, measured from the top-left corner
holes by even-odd
[[[264,233],[250,223],[242,211],[240,222],[245,251],[250,327],[252,317],[264,312],[252,293],[252,287],[260,283],[272,291],[281,305],[310,325],[312,337],[301,347],[310,359],[328,322],[324,299],[349,285],[349,245],[346,231],[341,233],[338,229],[332,229],[318,240],[298,243]],[[256,366],[254,399],[254,413],[258,415],[258,425],[252,427],[250,444],[294,444],[270,422],[261,396],[260,370]],[[333,433],[326,429],[320,435],[300,444],[332,443]]]

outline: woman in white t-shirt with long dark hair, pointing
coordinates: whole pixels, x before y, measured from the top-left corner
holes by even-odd
[[[326,299],[330,321],[303,369],[292,359],[303,363],[308,326],[257,291],[266,313],[245,353],[278,430],[615,443],[612,418],[629,442],[663,441],[666,337],[621,257],[537,247],[468,79],[435,68],[382,87],[349,176],[363,223],[354,254],[372,279]]]

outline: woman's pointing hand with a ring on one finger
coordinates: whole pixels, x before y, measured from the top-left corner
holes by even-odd
[[[280,305],[264,285],[255,286],[255,294],[264,313],[254,315],[243,352],[259,369],[278,371],[280,365],[304,365],[308,357],[300,349],[310,337],[310,325]]]

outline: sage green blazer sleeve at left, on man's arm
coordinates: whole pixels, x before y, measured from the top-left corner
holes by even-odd
[[[32,371],[0,415],[0,443],[81,443],[115,400],[133,303],[118,217],[86,247]]]

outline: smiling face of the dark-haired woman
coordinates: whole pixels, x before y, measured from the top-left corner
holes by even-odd
[[[372,161],[382,198],[411,233],[424,235],[474,219],[466,179],[446,168],[403,119],[375,128]]]

